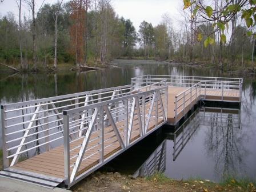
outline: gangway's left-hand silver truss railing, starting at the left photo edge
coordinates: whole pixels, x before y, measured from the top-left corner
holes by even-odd
[[[131,91],[131,85],[126,85],[2,105],[3,167],[15,165],[20,156],[24,159],[63,144],[62,110],[123,97]]]

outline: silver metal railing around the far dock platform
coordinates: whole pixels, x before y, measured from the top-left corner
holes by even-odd
[[[207,101],[241,102],[242,78],[143,75],[132,78],[131,85],[139,88],[163,80],[169,87],[188,87],[175,97],[174,124],[179,121],[181,115],[184,117],[201,98]],[[214,94],[210,91],[214,91]],[[227,96],[227,92],[232,94]],[[227,97],[229,99],[226,99]]]

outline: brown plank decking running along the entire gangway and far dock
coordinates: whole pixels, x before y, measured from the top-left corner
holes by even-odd
[[[175,96],[179,93],[182,93],[188,89],[188,87],[169,87],[168,89],[168,111],[167,111],[167,121],[169,123],[175,123],[179,121],[184,114],[186,114],[190,109],[191,106],[193,106],[197,99],[195,96],[189,101],[186,102],[186,108],[184,113],[179,113],[177,115],[178,117],[175,117]],[[195,91],[195,90],[193,90]],[[195,92],[192,93],[194,94]],[[205,90],[201,90],[201,95],[205,94]],[[222,91],[219,90],[206,90],[206,99],[208,100],[222,100],[221,97]],[[239,101],[239,92],[238,91],[223,91],[223,100],[227,101]],[[199,97],[199,95],[198,95]],[[178,102],[182,103],[182,101]],[[146,114],[149,112],[149,106],[150,103],[146,106]],[[181,110],[178,110],[180,112]],[[163,111],[161,110],[160,105],[158,105],[158,113],[159,116],[163,115]],[[152,116],[150,118],[150,124],[148,127],[148,130],[151,130],[155,127],[155,107],[154,111],[152,113]],[[146,117],[145,117],[146,118]],[[158,125],[163,122],[163,118],[158,118]],[[117,124],[119,133],[121,137],[124,137],[124,123],[123,121],[119,121]],[[119,142],[117,141],[117,137],[115,137],[115,132],[113,131],[113,128],[111,126],[105,127],[105,149],[104,149],[104,157],[107,158],[110,155],[116,153],[117,151],[121,150],[121,146],[119,145]],[[87,146],[86,153],[83,157],[86,158],[85,161],[82,161],[80,169],[78,171],[78,174],[83,173],[87,170],[89,170],[91,167],[97,165],[99,163],[99,150],[100,150],[100,137],[99,137],[99,131],[94,131],[94,133],[90,137],[89,145]],[[138,126],[138,117],[135,115],[134,122],[133,122],[133,128],[132,128],[132,134],[131,134],[131,142],[135,141],[140,137],[139,132],[139,126]],[[70,149],[81,145],[83,141],[83,138],[74,141],[70,143]],[[35,157],[31,157],[29,159],[26,159],[25,161],[19,162],[16,165],[13,166],[14,169],[24,170],[24,171],[30,171],[38,174],[43,175],[50,175],[57,178],[64,178],[64,154],[63,154],[63,146],[55,147],[54,149],[51,149],[50,151],[46,151],[45,153],[36,155]],[[70,152],[70,157],[73,157],[73,155],[76,155],[79,153],[80,148],[75,149]],[[76,158],[70,159],[70,165],[73,165]],[[73,170],[73,167],[71,167],[70,171]]]

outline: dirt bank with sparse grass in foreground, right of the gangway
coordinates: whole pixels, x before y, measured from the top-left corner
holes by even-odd
[[[255,192],[255,183],[229,179],[221,183],[209,180],[189,179],[177,181],[163,174],[155,174],[148,178],[133,179],[119,173],[94,173],[83,179],[71,190],[83,191],[248,191]]]

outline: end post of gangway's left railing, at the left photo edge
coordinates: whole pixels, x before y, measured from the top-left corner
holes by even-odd
[[[2,147],[3,147],[3,169],[10,166],[9,159],[7,159],[7,145],[6,145],[6,107],[1,105],[1,121],[2,121]]]

